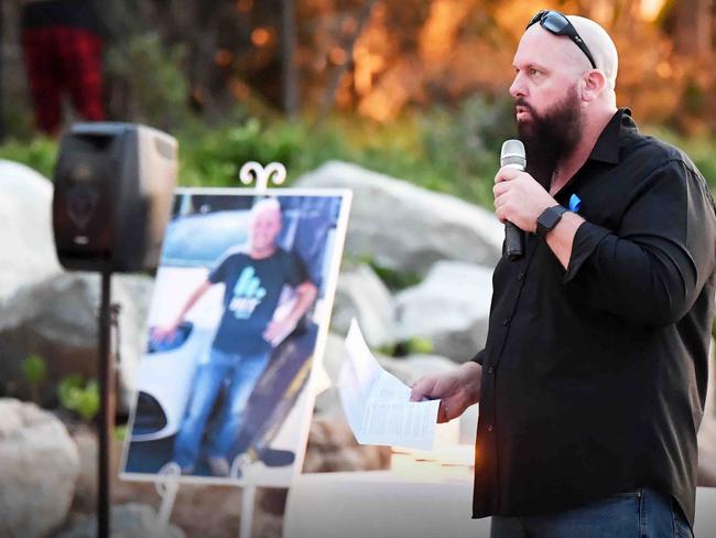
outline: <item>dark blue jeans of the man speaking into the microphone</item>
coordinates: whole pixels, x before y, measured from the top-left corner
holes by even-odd
[[[654,489],[620,493],[578,508],[492,517],[491,538],[693,538],[675,501]]]

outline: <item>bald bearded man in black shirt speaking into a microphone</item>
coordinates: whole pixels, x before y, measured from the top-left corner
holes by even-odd
[[[617,108],[617,65],[594,21],[528,25],[510,86],[528,168],[493,187],[524,255],[495,270],[485,349],[413,387],[440,422],[480,404],[473,516],[493,538],[692,536],[714,202]]]

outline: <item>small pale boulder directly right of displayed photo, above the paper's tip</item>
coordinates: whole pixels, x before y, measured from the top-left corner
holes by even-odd
[[[330,329],[347,334],[356,318],[370,347],[395,344],[395,301],[390,291],[367,265],[340,271],[330,315]]]

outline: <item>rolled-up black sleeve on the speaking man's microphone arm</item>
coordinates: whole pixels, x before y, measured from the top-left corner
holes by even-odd
[[[713,269],[713,226],[704,181],[683,161],[668,161],[630,193],[615,232],[589,222],[577,229],[565,286],[630,321],[674,323]]]

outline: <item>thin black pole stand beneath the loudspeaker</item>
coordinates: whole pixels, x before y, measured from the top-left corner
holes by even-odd
[[[110,347],[111,334],[111,276],[110,262],[101,270],[101,302],[99,306],[99,453],[97,495],[97,537],[110,535],[110,473],[111,440],[115,427],[115,365]]]

